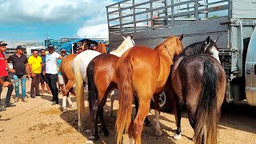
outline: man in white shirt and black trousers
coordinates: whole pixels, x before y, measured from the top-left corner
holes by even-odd
[[[58,104],[58,59],[62,56],[54,51],[53,45],[48,45],[49,53],[46,54],[46,79],[50,87],[51,94],[53,94],[52,105]]]

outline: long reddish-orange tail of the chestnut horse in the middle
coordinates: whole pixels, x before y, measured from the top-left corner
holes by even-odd
[[[128,60],[118,66],[119,110],[116,122],[117,143],[122,143],[123,131],[128,132],[131,122],[133,90],[131,86],[133,68]]]

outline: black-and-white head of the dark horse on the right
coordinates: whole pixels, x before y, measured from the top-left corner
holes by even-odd
[[[218,46],[216,44],[216,42],[218,41],[218,38],[215,39],[214,41],[212,39],[210,39],[210,36],[206,38],[205,41],[205,49],[204,49],[204,53],[205,54],[210,54],[212,57],[216,58],[218,60],[218,62],[220,62],[219,57],[218,57]]]

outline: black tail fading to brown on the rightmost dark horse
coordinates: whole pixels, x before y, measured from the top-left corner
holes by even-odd
[[[195,115],[195,143],[217,144],[217,73],[206,61],[202,74],[202,95]]]

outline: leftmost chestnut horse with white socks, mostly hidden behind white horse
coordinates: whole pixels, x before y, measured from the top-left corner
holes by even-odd
[[[84,48],[83,50],[86,50],[85,48],[88,47],[86,42],[83,43],[82,47]],[[99,53],[105,54],[106,53],[106,44],[104,43],[99,43],[96,46],[96,51]],[[74,58],[78,54],[69,54],[66,56],[66,58],[62,59],[62,63],[60,66],[60,70],[62,73],[62,77],[65,82],[65,88],[62,90],[63,98],[62,98],[62,110],[66,111],[66,99],[68,100],[69,104],[72,106],[72,101],[69,97],[69,93],[74,94],[74,72],[72,70],[72,64],[74,61]]]

